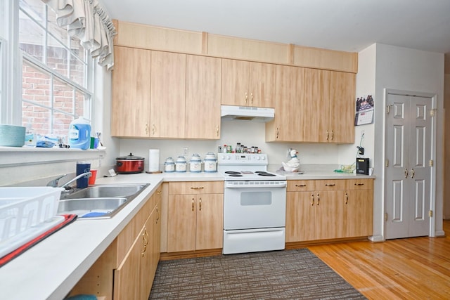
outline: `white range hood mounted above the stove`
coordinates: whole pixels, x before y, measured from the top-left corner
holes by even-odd
[[[221,105],[222,119],[269,122],[274,117],[274,108]]]

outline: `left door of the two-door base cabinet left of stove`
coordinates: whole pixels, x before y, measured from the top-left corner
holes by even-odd
[[[169,195],[167,252],[195,250],[197,202],[195,195]]]

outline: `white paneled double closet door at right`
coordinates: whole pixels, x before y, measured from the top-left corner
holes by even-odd
[[[432,98],[388,93],[386,239],[430,234]]]

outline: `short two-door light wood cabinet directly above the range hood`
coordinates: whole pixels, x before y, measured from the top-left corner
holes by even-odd
[[[276,65],[222,59],[221,104],[275,106]]]

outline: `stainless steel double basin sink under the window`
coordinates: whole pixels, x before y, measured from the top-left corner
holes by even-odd
[[[148,185],[91,185],[73,193],[63,192],[58,214],[77,214],[78,219],[110,219]]]

